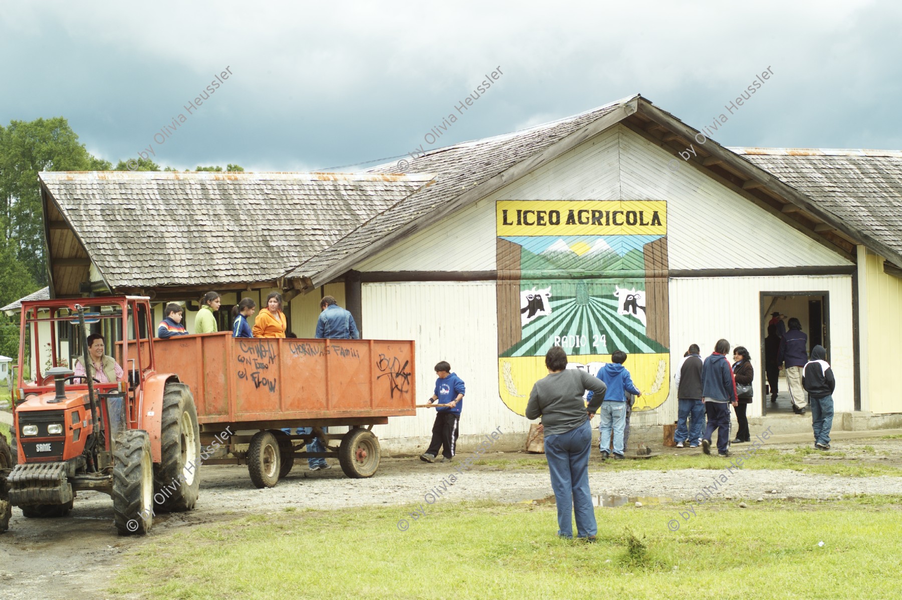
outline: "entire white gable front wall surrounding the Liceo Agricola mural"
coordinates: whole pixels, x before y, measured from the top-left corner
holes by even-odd
[[[482,201],[410,236],[356,266],[361,271],[477,271],[495,265],[497,200],[663,200],[667,202],[667,240],[671,269],[777,268],[850,265],[802,232],[749,200],[720,186],[694,168],[668,168],[673,157],[617,126],[538,168]],[[700,295],[715,291],[717,297]],[[688,343],[705,353],[726,337],[749,347],[756,386],[764,377],[759,356],[759,292],[830,290],[833,360],[842,370],[842,400],[851,410],[851,277],[723,277],[671,280],[671,364],[679,364]],[[483,434],[526,432],[529,422],[514,414],[498,395],[497,314],[493,281],[363,284],[364,333],[375,339],[417,341],[418,402],[432,392],[432,367],[448,360],[467,385],[461,431]],[[710,330],[710,331],[709,331]],[[731,337],[732,336],[732,337]],[[711,338],[711,339],[709,339]],[[642,384],[637,381],[637,385]],[[848,389],[846,389],[848,387]],[[759,389],[756,387],[756,389]],[[529,393],[528,390],[525,393]],[[759,392],[756,392],[758,395]],[[758,400],[750,416],[761,414]],[[664,405],[637,414],[637,424],[672,423],[676,394],[671,386]],[[400,439],[428,442],[434,414],[392,419],[378,434],[394,447]]]

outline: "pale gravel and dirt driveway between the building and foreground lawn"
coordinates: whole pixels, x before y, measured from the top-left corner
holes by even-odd
[[[798,443],[769,443],[776,450],[792,450]],[[804,444],[808,445],[808,444]],[[846,457],[813,455],[812,464],[847,459],[854,464],[893,465],[902,468],[902,440],[879,438],[834,443]],[[865,446],[872,447],[865,449]],[[739,450],[740,447],[734,448]],[[663,449],[692,454],[699,450]],[[461,458],[466,458],[466,453]],[[478,465],[457,474],[439,502],[491,498],[502,502],[539,500],[552,494],[548,468],[542,456],[497,453],[484,457],[491,464]],[[0,536],[0,598],[103,597],[124,552],[148,541],[203,523],[227,522],[246,514],[281,511],[286,506],[342,509],[362,505],[409,505],[424,502],[424,495],[456,473],[451,465],[427,464],[416,458],[383,459],[379,472],[369,479],[348,479],[338,468],[308,471],[298,461],[289,476],[269,489],[256,489],[245,467],[206,466],[201,470],[201,495],[196,510],[160,514],[145,537],[119,537],[112,523],[108,496],[86,492],[75,508],[60,519],[25,519],[14,509],[10,531]],[[671,471],[612,471],[596,456],[590,464],[594,494],[663,496],[688,500],[701,486],[711,484],[711,469]],[[776,490],[776,493],[775,493]],[[783,497],[837,497],[851,494],[902,494],[902,477],[840,477],[812,475],[792,470],[743,469],[723,492],[723,500]],[[399,509],[399,518],[403,512]]]

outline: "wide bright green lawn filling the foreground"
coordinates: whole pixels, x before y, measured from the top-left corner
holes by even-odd
[[[285,511],[192,527],[126,557],[143,598],[891,598],[902,499],[597,509],[598,542],[556,509],[491,502]],[[410,529],[401,532],[399,520]],[[820,545],[820,542],[824,542]]]

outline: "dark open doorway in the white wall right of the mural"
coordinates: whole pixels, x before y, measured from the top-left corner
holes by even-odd
[[[793,414],[792,401],[789,397],[786,370],[775,371],[772,365],[777,357],[774,355],[778,346],[776,341],[769,341],[769,324],[776,325],[777,335],[788,329],[789,319],[796,318],[802,325],[802,331],[808,337],[805,349],[811,354],[816,345],[827,350],[827,362],[830,361],[829,293],[828,292],[761,292],[761,356],[765,359],[765,372],[769,377],[758,380],[761,402],[761,414]],[[781,323],[782,322],[782,326]],[[773,355],[773,356],[771,356]],[[776,376],[776,377],[774,377]],[[775,395],[776,392],[776,395]]]

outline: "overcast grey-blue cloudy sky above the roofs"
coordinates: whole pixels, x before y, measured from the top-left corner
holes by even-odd
[[[896,0],[6,0],[0,123],[65,116],[113,162],[152,145],[156,162],[178,168],[311,170],[511,132],[635,93],[700,128],[770,67],[716,141],[898,150],[900,31]],[[233,75],[189,114],[226,68]],[[425,143],[448,114],[456,123]],[[170,137],[154,141],[167,124]]]

